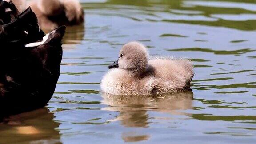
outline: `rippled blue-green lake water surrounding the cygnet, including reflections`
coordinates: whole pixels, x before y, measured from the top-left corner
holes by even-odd
[[[67,30],[52,100],[0,125],[0,143],[255,143],[256,0],[82,4],[86,22]],[[108,64],[134,40],[152,56],[193,60],[192,91],[102,94]]]

